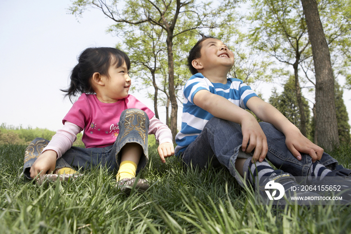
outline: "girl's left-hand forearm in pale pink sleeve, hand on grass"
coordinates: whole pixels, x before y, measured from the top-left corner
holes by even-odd
[[[77,134],[82,129],[75,124],[65,122],[61,130],[58,130],[42,154],[33,163],[30,173],[34,179],[38,174],[52,173],[56,167],[56,160],[69,150],[77,139]]]

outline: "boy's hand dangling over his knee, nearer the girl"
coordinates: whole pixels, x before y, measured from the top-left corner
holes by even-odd
[[[267,138],[254,116],[251,115],[251,117],[250,115],[249,118],[245,118],[241,122],[243,133],[242,150],[245,153],[251,153],[255,150],[252,162],[254,163],[257,160],[262,162],[268,152]]]

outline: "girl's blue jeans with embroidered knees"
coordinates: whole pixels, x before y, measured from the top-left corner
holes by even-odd
[[[145,167],[148,161],[147,133],[149,119],[140,109],[126,109],[121,113],[119,120],[119,134],[115,143],[103,148],[71,147],[56,161],[56,168],[69,167],[72,169],[89,169],[98,165],[106,166],[110,171],[118,170],[122,147],[127,143],[138,143],[143,149],[143,155],[137,165],[136,173]],[[28,179],[30,169],[49,141],[36,138],[27,147],[23,172]]]

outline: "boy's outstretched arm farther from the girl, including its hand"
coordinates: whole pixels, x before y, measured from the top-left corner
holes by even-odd
[[[300,130],[274,106],[259,97],[251,97],[246,105],[259,119],[272,124],[285,135],[285,144],[297,160],[301,160],[300,152],[311,156],[313,162],[321,159],[323,149],[304,137]]]

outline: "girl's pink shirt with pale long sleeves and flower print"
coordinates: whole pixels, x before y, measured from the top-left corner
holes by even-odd
[[[54,150],[60,158],[69,150],[82,130],[85,148],[101,148],[113,145],[119,134],[119,118],[123,110],[138,108],[146,112],[150,120],[148,134],[154,134],[159,144],[172,143],[169,128],[154,117],[154,113],[132,95],[115,103],[103,103],[95,94],[83,93],[63,119],[63,128],[58,130],[46,150]]]

